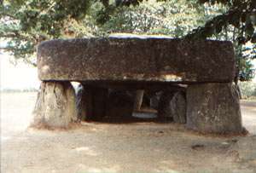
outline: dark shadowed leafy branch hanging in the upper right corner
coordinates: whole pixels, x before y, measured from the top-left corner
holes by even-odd
[[[190,32],[188,38],[207,38],[214,34],[219,34],[229,25],[237,28],[241,34],[236,38],[238,43],[244,44],[253,39],[256,24],[256,4],[255,0],[234,0],[218,1],[203,0],[201,3],[224,3],[230,5],[230,10],[220,14],[212,20],[208,20],[205,26]]]

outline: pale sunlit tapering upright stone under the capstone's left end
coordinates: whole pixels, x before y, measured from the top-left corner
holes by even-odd
[[[77,121],[75,92],[69,82],[42,82],[31,125],[67,127]]]

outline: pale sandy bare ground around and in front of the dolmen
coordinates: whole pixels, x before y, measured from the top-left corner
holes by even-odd
[[[1,172],[256,172],[256,101],[241,101],[250,134],[220,137],[153,122],[26,129],[35,99],[1,94]]]

